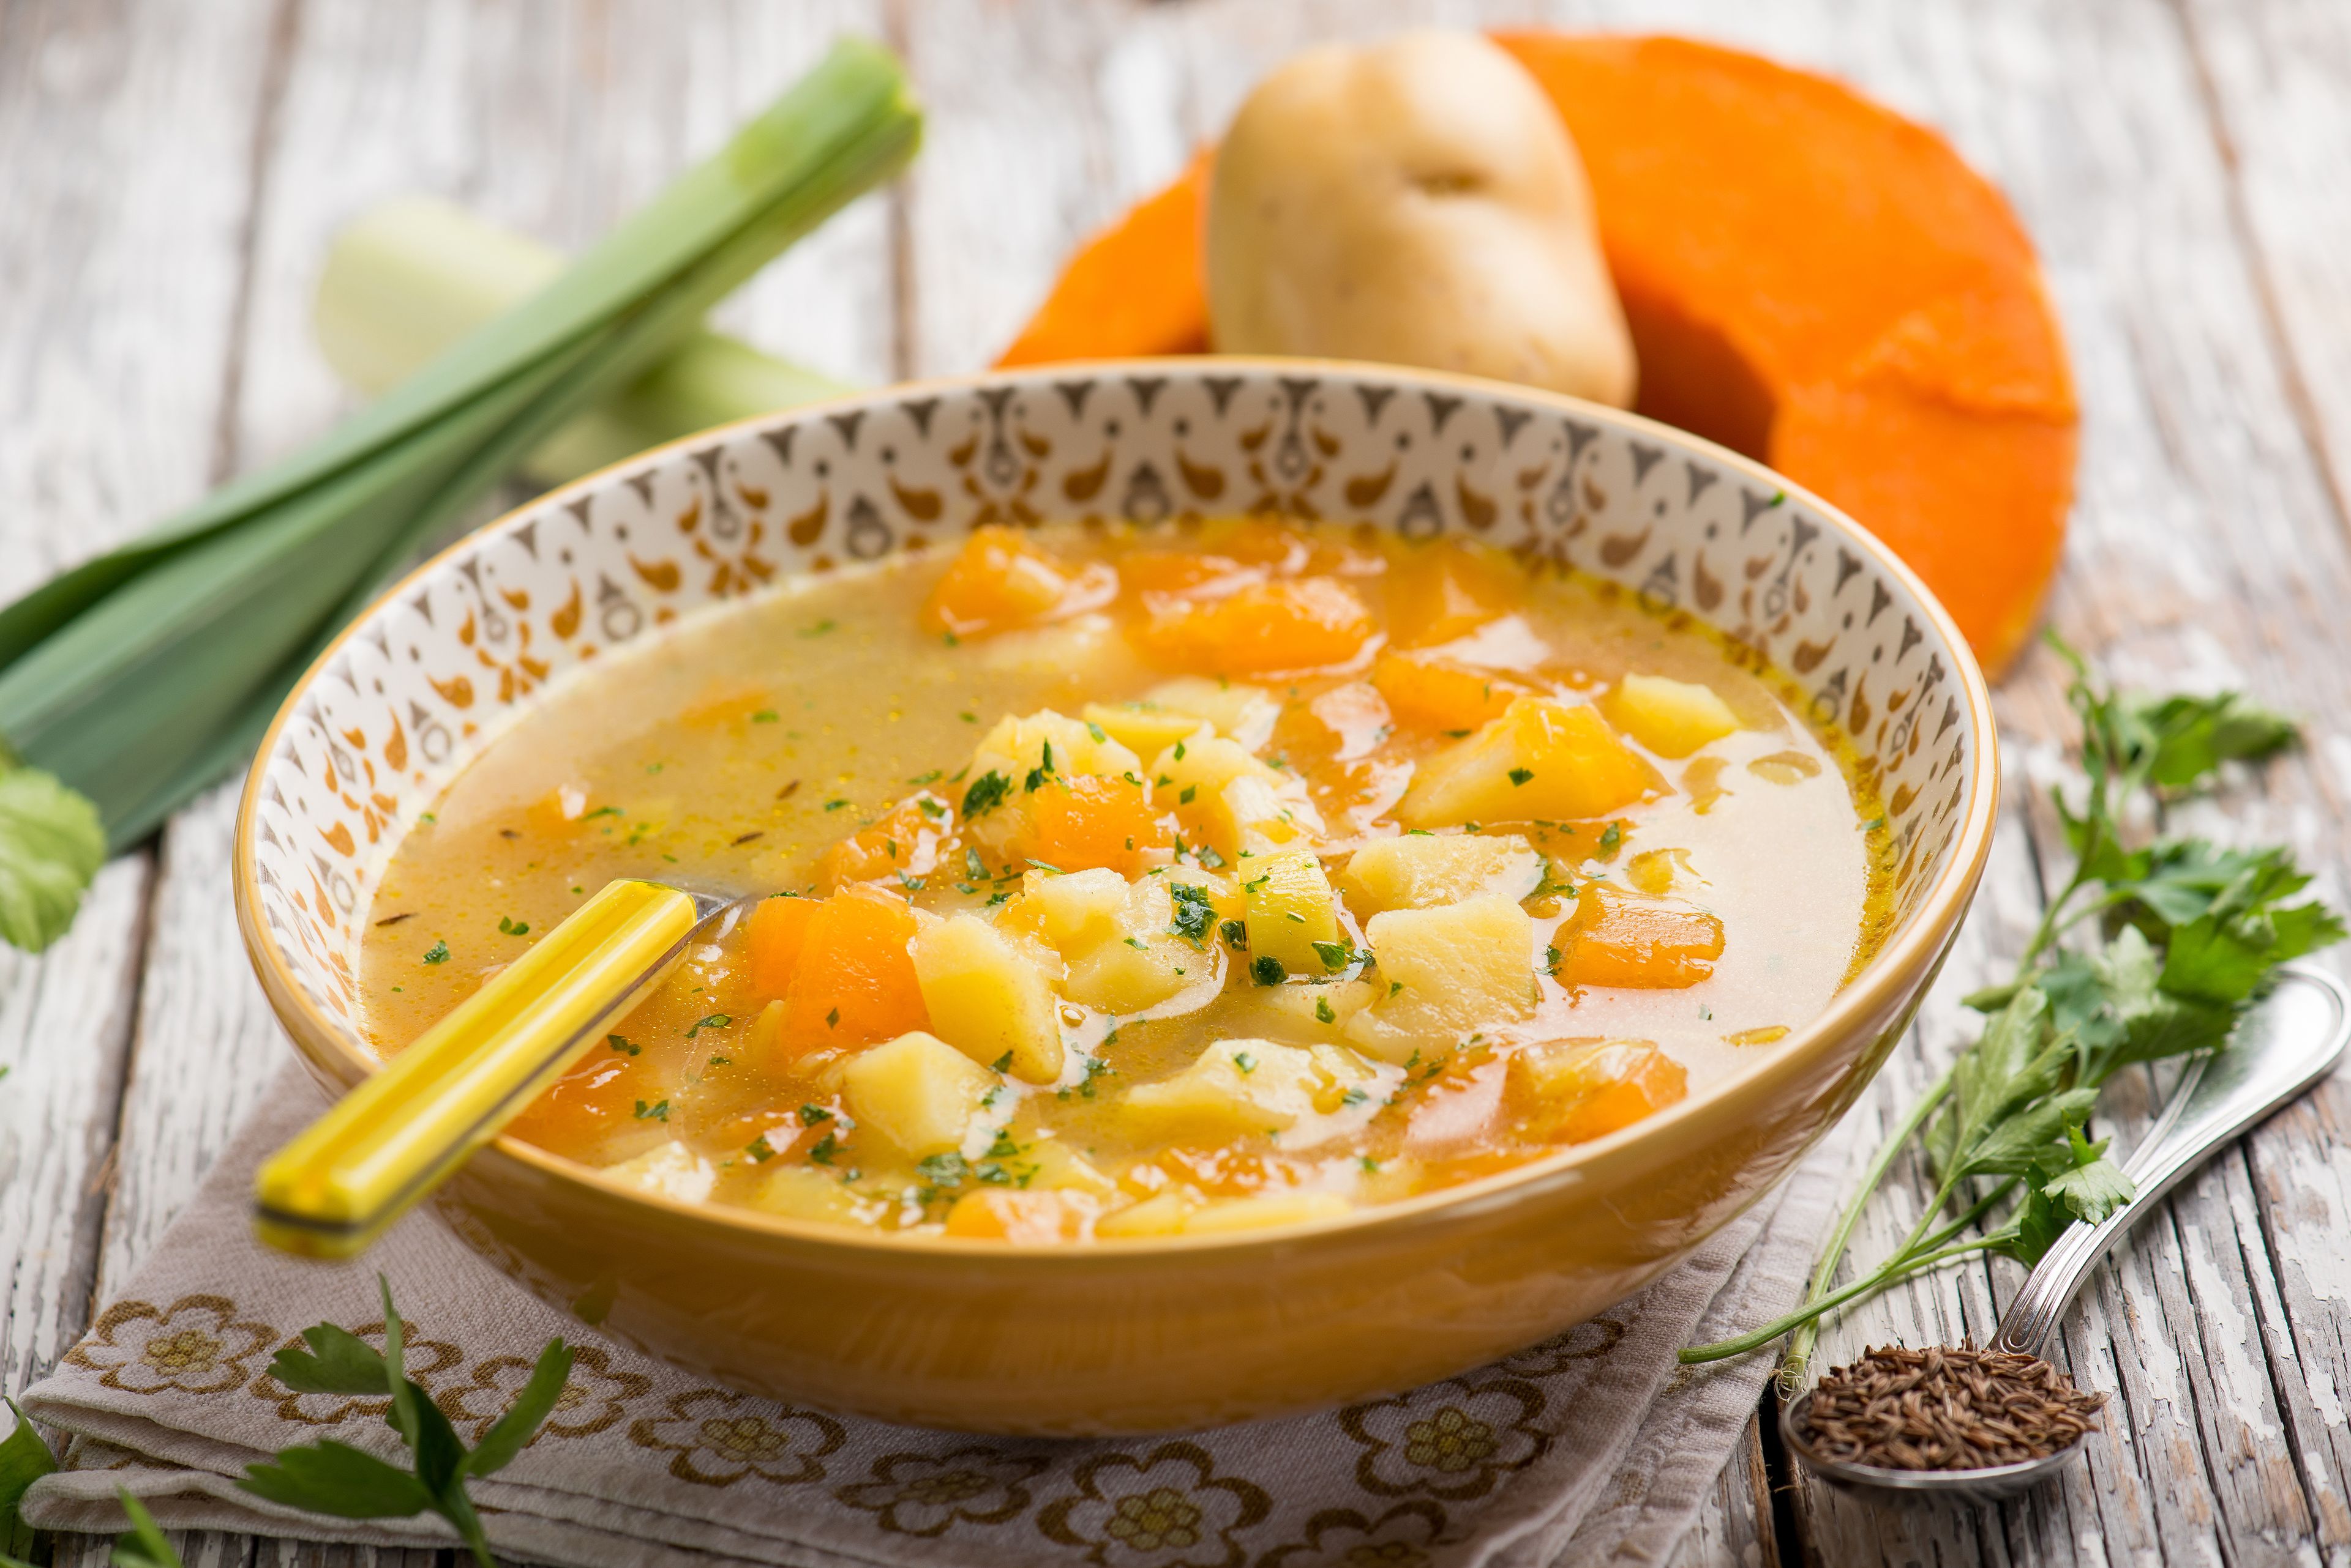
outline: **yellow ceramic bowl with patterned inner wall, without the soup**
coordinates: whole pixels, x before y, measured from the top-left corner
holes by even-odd
[[[1900,922],[1754,1065],[1620,1133],[1338,1222],[1079,1248],[682,1206],[498,1140],[435,1211],[522,1286],[741,1389],[1023,1434],[1208,1427],[1406,1389],[1625,1300],[1756,1201],[1895,1046],[1996,809],[1958,630],[1860,524],[1679,430],[1526,388],[1255,360],[1072,364],[773,414],[548,494],[428,562],[287,698],[237,820],[237,919],[329,1091],[400,837],[562,682],[726,599],[983,522],[1239,510],[1460,534],[1709,623],[1841,722]]]

